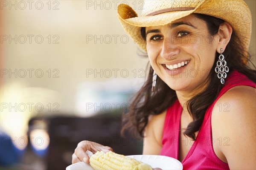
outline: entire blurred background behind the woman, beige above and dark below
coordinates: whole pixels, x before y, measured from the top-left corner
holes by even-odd
[[[250,53],[255,64],[256,1]],[[142,0],[0,0],[0,168],[65,169],[81,140],[142,153],[121,137],[121,116],[147,74],[148,59],[116,17]]]

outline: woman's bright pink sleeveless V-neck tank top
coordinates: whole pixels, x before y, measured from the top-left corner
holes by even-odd
[[[182,141],[192,145],[186,157],[181,162],[183,170],[229,170],[227,163],[218,159],[212,147],[212,125],[211,115],[217,100],[230,88],[238,85],[247,85],[256,88],[256,84],[238,71],[234,71],[226,80],[217,99],[207,109],[203,123],[192,144],[190,138]],[[180,140],[180,116],[182,107],[178,100],[167,110],[166,119],[163,127],[162,150],[160,155],[170,156],[178,159],[179,140]],[[222,142],[228,140],[222,139]],[[220,141],[215,141],[220,142]],[[224,143],[223,143],[224,144]],[[227,143],[226,143],[227,144]]]

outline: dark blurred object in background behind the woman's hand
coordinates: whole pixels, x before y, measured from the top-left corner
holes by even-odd
[[[47,122],[50,137],[46,156],[48,170],[64,170],[70,165],[72,154],[82,140],[112,147],[116,153],[123,155],[142,153],[143,139],[120,136],[121,116],[54,117],[48,118]]]

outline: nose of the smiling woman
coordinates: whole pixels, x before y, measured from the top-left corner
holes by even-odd
[[[180,48],[175,44],[175,41],[172,41],[171,37],[166,37],[163,39],[162,50],[160,56],[166,60],[174,58],[179,54]]]

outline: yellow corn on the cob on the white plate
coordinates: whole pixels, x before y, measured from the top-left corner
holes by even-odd
[[[111,151],[96,152],[90,157],[90,165],[95,170],[152,170],[148,164]]]

